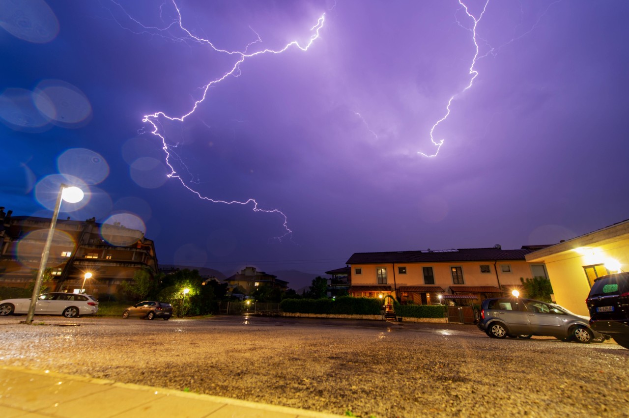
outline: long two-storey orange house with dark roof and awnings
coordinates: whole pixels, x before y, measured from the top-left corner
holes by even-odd
[[[520,278],[546,277],[543,263],[529,263],[525,255],[542,246],[520,250],[460,248],[452,250],[354,253],[350,265],[355,297],[386,297],[402,303],[478,303],[521,289]]]

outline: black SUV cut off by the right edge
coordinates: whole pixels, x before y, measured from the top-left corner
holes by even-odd
[[[594,280],[586,299],[590,326],[610,334],[629,348],[629,273],[615,273]]]

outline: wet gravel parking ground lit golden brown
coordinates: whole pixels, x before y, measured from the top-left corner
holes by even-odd
[[[369,417],[629,417],[629,350],[475,326],[0,317],[0,364]]]

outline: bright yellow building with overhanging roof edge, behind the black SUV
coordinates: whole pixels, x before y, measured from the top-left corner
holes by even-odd
[[[558,304],[589,316],[585,300],[596,278],[629,265],[629,219],[526,255],[544,263]]]

